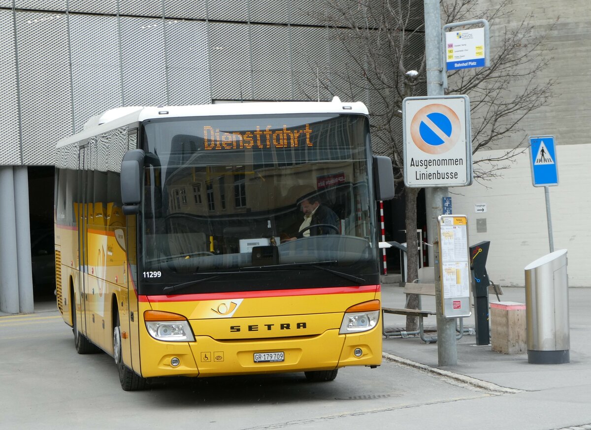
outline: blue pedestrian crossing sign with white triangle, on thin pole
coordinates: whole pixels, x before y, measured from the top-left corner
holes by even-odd
[[[558,185],[554,136],[530,136],[530,162],[534,187]]]

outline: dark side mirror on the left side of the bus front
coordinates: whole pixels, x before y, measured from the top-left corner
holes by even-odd
[[[144,157],[142,149],[132,149],[125,153],[121,162],[121,200],[126,215],[139,212]]]

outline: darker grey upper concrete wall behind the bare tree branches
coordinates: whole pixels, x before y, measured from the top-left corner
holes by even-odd
[[[498,4],[498,0],[479,1],[482,9]],[[517,30],[531,12],[531,22],[537,34],[550,30],[541,48],[547,50],[542,53],[551,61],[547,69],[535,71],[525,79],[534,76],[534,82],[548,79],[556,82],[548,106],[522,120],[522,136],[551,134],[556,136],[558,145],[586,144],[591,123],[591,3],[589,0],[519,0],[514,1],[509,9],[514,12],[491,27],[491,52],[500,47],[499,36],[505,30]],[[554,28],[551,29],[552,25]],[[520,85],[515,80],[509,90],[518,89]],[[521,136],[507,139],[501,147],[509,148],[519,140]]]

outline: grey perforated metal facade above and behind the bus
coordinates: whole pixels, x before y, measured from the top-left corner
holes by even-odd
[[[112,107],[330,99],[339,85],[320,81],[351,67],[319,19],[325,9],[324,0],[0,0],[0,165],[53,164],[60,138]]]

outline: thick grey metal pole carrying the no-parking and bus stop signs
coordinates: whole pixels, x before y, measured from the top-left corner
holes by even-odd
[[[443,96],[443,47],[441,46],[441,12],[439,0],[423,0],[425,14],[425,56],[427,66],[427,95]],[[457,364],[456,320],[443,315],[438,218],[443,214],[443,197],[447,187],[426,188],[427,222],[433,243],[435,271],[435,305],[437,308],[437,357],[439,366]]]

